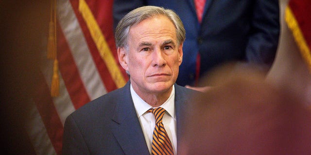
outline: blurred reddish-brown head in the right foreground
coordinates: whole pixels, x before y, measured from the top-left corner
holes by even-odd
[[[213,89],[193,97],[181,154],[310,155],[310,109],[259,72],[228,68],[203,81]]]

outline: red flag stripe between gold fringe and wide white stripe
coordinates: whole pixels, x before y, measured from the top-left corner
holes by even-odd
[[[71,6],[76,14],[76,17],[79,21],[80,27],[85,35],[85,39],[87,42],[87,46],[89,48],[89,51],[93,57],[93,60],[96,64],[96,67],[98,69],[99,75],[101,76],[105,88],[107,90],[107,92],[111,92],[115,89],[117,89],[117,86],[115,84],[115,82],[113,81],[111,75],[109,74],[108,68],[104,63],[104,60],[102,59],[92,37],[91,34],[86,26],[86,23],[83,19],[83,17],[81,16],[81,14],[79,13],[79,1],[78,0],[70,0],[71,2]],[[105,20],[105,19],[103,19]],[[109,23],[107,23],[107,25],[109,25]]]

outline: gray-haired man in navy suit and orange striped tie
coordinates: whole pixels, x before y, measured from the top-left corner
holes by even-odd
[[[69,115],[63,154],[176,154],[187,95],[195,93],[174,84],[185,40],[180,18],[172,10],[140,7],[121,19],[115,35],[119,62],[130,80]],[[160,108],[169,149],[156,143],[153,112],[158,107],[165,109]]]

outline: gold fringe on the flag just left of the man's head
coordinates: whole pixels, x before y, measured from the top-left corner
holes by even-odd
[[[105,40],[105,37],[85,0],[79,0],[79,11],[86,22],[91,37],[95,42],[96,47],[100,52],[100,55],[104,60],[113,81],[118,88],[123,87],[126,81],[121,73],[120,67],[118,66],[118,63],[116,62]]]

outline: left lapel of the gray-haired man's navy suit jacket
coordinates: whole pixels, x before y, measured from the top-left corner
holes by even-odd
[[[130,93],[130,82],[117,99],[111,130],[125,155],[148,155],[149,150]]]

